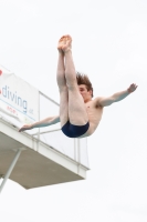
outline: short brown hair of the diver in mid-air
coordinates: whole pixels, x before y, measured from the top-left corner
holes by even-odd
[[[76,71],[76,81],[77,84],[85,84],[87,91],[92,90],[92,97],[93,97],[93,85],[92,82],[90,81],[88,77],[86,74],[80,73]]]

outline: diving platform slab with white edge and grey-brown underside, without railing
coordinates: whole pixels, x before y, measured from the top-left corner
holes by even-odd
[[[86,171],[90,170],[87,167],[18,130],[0,118],[0,178],[3,179],[3,184],[4,180],[10,179],[25,189],[32,189],[86,178]],[[80,141],[76,144],[74,142],[74,145],[80,149]],[[0,190],[3,184],[1,183]]]

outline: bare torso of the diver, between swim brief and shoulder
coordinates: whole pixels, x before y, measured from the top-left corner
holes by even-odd
[[[90,128],[87,132],[81,135],[80,138],[90,137],[92,133],[94,133],[94,131],[99,124],[103,114],[103,107],[98,107],[95,100],[86,102],[85,105],[88,115]]]

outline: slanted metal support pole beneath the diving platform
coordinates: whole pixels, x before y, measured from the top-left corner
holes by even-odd
[[[21,149],[18,150],[18,152],[17,152],[17,154],[15,154],[15,157],[14,157],[14,159],[13,159],[13,161],[12,161],[12,163],[11,163],[11,165],[10,165],[10,168],[9,168],[9,170],[8,170],[8,172],[7,172],[7,174],[6,174],[4,178],[3,178],[3,181],[2,181],[2,183],[1,183],[1,185],[0,185],[0,193],[1,193],[3,186],[4,186],[6,182],[7,182],[7,179],[9,178],[9,175],[11,174],[11,172],[12,172],[14,165],[15,165],[15,163],[17,163],[17,161],[18,161],[20,154],[21,154],[21,151],[22,151]]]

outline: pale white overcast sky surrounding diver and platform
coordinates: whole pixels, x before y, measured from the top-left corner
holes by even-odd
[[[94,97],[138,89],[105,108],[87,140],[86,180],[29,191],[8,181],[0,220],[146,222],[147,1],[0,0],[0,64],[57,102],[56,46],[66,33]]]

